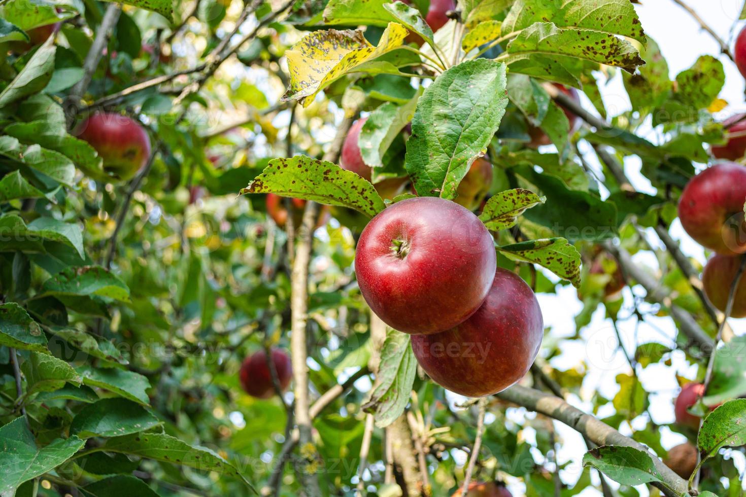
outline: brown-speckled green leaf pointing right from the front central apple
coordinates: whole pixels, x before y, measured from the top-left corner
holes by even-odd
[[[521,241],[497,249],[508,259],[538,264],[575,287],[580,285],[580,253],[565,238]]]

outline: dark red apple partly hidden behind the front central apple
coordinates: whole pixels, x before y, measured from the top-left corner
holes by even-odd
[[[536,295],[520,276],[498,268],[474,315],[446,332],[413,336],[412,349],[434,382],[460,395],[483,397],[523,378],[543,336]]]

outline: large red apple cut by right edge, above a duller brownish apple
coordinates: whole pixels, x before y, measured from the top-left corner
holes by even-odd
[[[689,180],[679,218],[689,236],[717,253],[746,253],[746,167],[720,162]]]

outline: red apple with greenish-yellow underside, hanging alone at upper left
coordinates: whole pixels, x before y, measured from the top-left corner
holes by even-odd
[[[91,114],[78,128],[78,138],[95,148],[104,159],[104,171],[119,180],[134,177],[150,156],[148,133],[126,115]]]

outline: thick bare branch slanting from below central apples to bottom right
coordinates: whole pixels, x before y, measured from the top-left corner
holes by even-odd
[[[618,445],[633,447],[647,452],[651,455],[651,459],[656,466],[656,469],[663,476],[665,484],[675,490],[677,493],[670,493],[668,490],[662,489],[666,495],[680,496],[687,492],[687,482],[679,475],[674,473],[668,466],[660,460],[656,455],[651,454],[648,448],[643,446],[641,443],[637,443],[623,434],[616,431],[606,423],[597,420],[589,414],[580,411],[580,409],[574,408],[564,400],[551,395],[549,393],[543,393],[533,388],[521,387],[515,385],[503,390],[501,393],[495,394],[499,399],[506,400],[507,402],[513,402],[513,404],[521,405],[530,411],[535,411],[539,414],[554,418],[557,421],[561,421],[568,425],[570,428],[578,431],[580,434],[588,437],[593,443],[599,446],[604,445]]]

